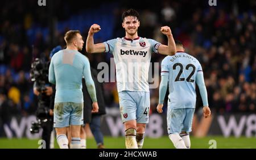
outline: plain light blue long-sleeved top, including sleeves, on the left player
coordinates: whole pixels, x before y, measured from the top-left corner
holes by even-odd
[[[49,82],[56,84],[55,103],[82,103],[82,76],[90,91],[93,102],[96,102],[96,91],[88,58],[77,50],[60,50],[51,59],[49,66]]]

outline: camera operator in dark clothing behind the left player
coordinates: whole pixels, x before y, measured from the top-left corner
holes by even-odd
[[[33,91],[38,96],[38,109],[36,119],[33,123],[31,133],[38,133],[39,128],[43,129],[42,140],[46,142],[46,148],[50,148],[51,132],[53,130],[53,110],[50,108],[52,86],[48,81],[49,60],[36,58],[32,64],[31,80],[34,82]]]

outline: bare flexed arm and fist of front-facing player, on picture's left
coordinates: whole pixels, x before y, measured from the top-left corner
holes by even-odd
[[[101,30],[98,24],[90,26],[86,40],[86,52],[88,53],[104,53],[106,51],[104,43],[94,44],[93,35]]]

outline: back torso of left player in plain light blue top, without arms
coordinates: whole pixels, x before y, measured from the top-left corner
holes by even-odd
[[[77,50],[69,49],[60,50],[52,57],[56,79],[55,102],[83,101],[82,74],[86,60]]]

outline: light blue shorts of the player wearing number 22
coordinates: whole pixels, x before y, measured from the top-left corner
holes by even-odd
[[[180,108],[174,109],[170,107],[168,102],[167,108],[167,132],[168,134],[172,133],[181,133],[191,132],[192,131],[192,121],[195,108]]]

